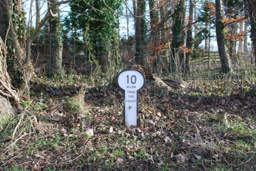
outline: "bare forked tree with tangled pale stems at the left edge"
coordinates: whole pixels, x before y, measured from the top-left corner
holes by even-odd
[[[0,39],[0,111],[10,111],[7,115],[11,116],[15,111],[22,111],[23,108],[20,106],[19,102],[19,96],[22,95],[27,88],[27,83],[30,80],[33,66],[31,64],[31,43],[32,41],[38,36],[41,28],[44,26],[46,21],[50,18],[56,17],[57,14],[54,14],[52,10],[57,7],[60,4],[66,4],[69,3],[69,1],[61,1],[61,2],[56,2],[52,4],[51,7],[48,8],[48,11],[44,17],[38,24],[38,27],[35,30],[35,33],[29,37],[27,37],[26,40],[26,55],[25,55],[25,60],[24,59],[24,54],[20,51],[20,45],[19,42],[16,38],[16,33],[14,30],[13,22],[12,22],[12,11],[10,10],[10,5],[8,0],[2,0],[0,4],[3,4],[5,7],[6,11],[6,19],[7,23],[10,24],[10,33],[11,33],[11,38],[12,38],[12,43],[15,48],[15,53],[18,58],[18,65],[22,68],[22,71],[24,72],[24,77],[23,77],[23,82],[19,87],[19,90],[14,89],[10,83],[9,75],[6,69],[6,46],[4,45],[2,39]],[[9,28],[9,26],[7,27]],[[1,35],[2,36],[2,35]],[[10,102],[14,102],[14,106],[10,106]],[[7,103],[8,102],[8,103]],[[3,113],[0,113],[0,120],[2,117]],[[4,115],[3,115],[4,116]],[[6,117],[6,116],[4,116]]]

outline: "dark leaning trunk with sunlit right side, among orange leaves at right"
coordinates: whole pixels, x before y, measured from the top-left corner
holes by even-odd
[[[221,0],[215,0],[216,7],[216,36],[217,36],[217,44],[218,51],[221,60],[221,71],[223,73],[227,73],[232,71],[230,57],[228,55],[228,50],[226,46],[225,40],[225,31],[224,31],[224,23],[221,21],[223,19],[222,14],[222,4]]]

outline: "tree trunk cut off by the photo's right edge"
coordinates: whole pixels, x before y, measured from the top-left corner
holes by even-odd
[[[247,8],[251,24],[251,41],[254,51],[254,66],[256,65],[256,3],[255,1],[247,1]]]

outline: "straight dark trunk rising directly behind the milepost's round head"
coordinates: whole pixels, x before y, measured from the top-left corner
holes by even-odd
[[[146,3],[144,0],[137,1],[137,16],[136,16],[136,56],[135,63],[144,65],[145,53],[145,38],[146,38],[146,19],[145,19]]]

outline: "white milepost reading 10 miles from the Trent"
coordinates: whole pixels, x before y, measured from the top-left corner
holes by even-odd
[[[138,90],[145,84],[144,75],[138,70],[123,70],[117,83],[124,90],[124,123],[126,126],[138,125]]]

